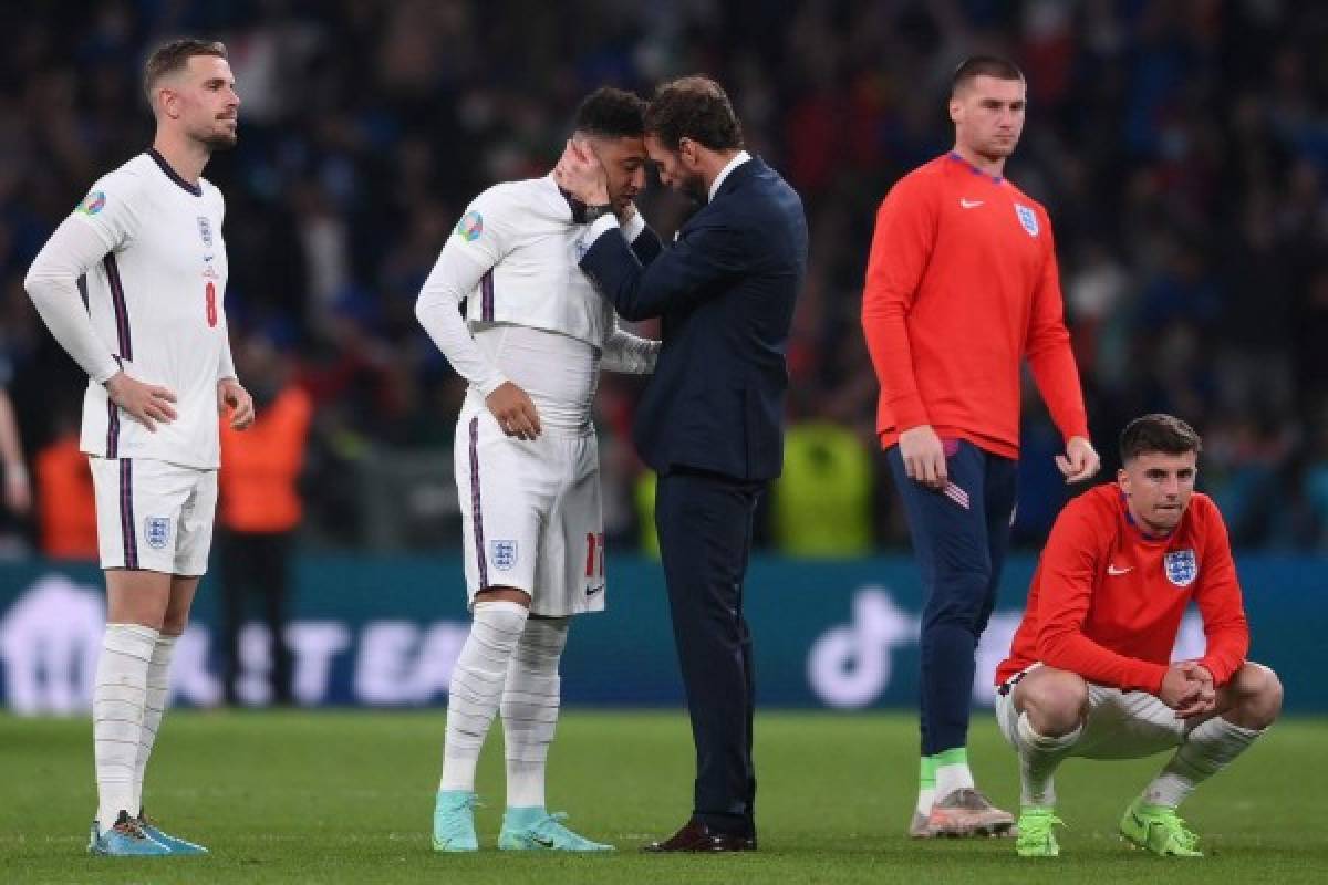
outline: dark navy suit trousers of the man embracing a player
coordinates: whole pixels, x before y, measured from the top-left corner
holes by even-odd
[[[742,581],[764,482],[706,471],[661,475],[655,499],[673,640],[696,743],[693,819],[754,835],[752,634]]]

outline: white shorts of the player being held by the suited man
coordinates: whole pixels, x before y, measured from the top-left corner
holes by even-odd
[[[510,438],[483,406],[462,409],[453,446],[466,593],[511,586],[531,614],[604,610],[604,516],[594,427]]]

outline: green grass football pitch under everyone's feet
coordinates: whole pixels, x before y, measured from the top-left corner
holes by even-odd
[[[85,853],[93,812],[89,726],[0,716],[4,882],[1324,882],[1328,720],[1279,723],[1208,782],[1185,813],[1203,860],[1129,851],[1126,803],[1162,758],[1069,760],[1057,785],[1069,824],[1061,857],[1025,861],[1011,840],[915,843],[912,716],[765,713],[757,719],[761,851],[648,856],[683,823],[691,740],[680,711],[564,714],[550,808],[611,841],[607,856],[493,848],[502,815],[501,739],[479,774],[478,854],[429,849],[444,715],[432,713],[177,713],[162,731],[147,803],[203,858],[124,861]],[[497,728],[495,728],[497,732]],[[999,804],[1017,797],[1011,751],[979,714],[971,759]]]

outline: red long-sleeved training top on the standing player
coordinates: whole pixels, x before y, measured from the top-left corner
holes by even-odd
[[[1088,437],[1046,210],[957,154],[899,179],[880,203],[862,326],[883,447],[931,425],[1017,458],[1024,357],[1061,435]]]

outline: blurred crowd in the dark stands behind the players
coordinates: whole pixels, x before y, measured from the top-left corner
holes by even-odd
[[[376,537],[371,464],[406,451],[450,463],[462,389],[413,306],[466,202],[547,172],[595,86],[648,96],[704,70],[811,224],[790,345],[789,421],[807,433],[790,435],[802,460],[791,503],[777,490],[762,520],[765,543],[799,552],[815,520],[799,523],[797,502],[815,499],[839,520],[821,552],[899,544],[859,328],[867,248],[890,184],[950,147],[952,68],[995,50],[1028,77],[1029,123],[1007,169],[1053,219],[1106,467],[1129,418],[1182,415],[1203,434],[1202,487],[1238,547],[1328,547],[1319,4],[121,0],[11,5],[0,21],[0,381],[33,471],[68,450],[85,377],[23,277],[96,175],[146,147],[141,68],[159,40],[197,33],[230,49],[240,141],[208,178],[227,199],[236,362],[260,409],[292,383],[312,399],[305,539],[332,545]],[[667,235],[687,207],[655,188],[643,211]],[[637,385],[606,375],[599,393],[606,520],[620,540],[640,535],[625,438]],[[1031,395],[1024,545],[1070,494],[1052,466],[1058,446]],[[40,520],[5,519],[5,549],[36,543]],[[456,533],[413,543],[450,549]]]

